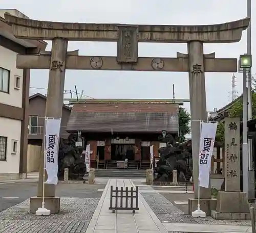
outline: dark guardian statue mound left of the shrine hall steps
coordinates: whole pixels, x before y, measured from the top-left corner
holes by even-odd
[[[81,159],[83,148],[76,146],[77,134],[71,133],[67,140],[60,139],[58,154],[58,177],[63,179],[64,169],[69,168],[69,179],[82,180],[86,173],[86,163]]]

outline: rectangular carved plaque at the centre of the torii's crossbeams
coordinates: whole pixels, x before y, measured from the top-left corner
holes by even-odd
[[[139,30],[134,26],[118,26],[117,62],[138,61]]]

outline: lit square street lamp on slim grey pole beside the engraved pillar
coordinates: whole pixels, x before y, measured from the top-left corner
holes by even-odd
[[[247,71],[251,68],[251,55],[240,55],[239,72],[243,71],[243,192],[249,192],[248,143],[247,143]]]

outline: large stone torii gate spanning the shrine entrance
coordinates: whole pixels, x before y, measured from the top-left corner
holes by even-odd
[[[50,69],[47,117],[62,115],[66,69],[188,72],[195,181],[195,199],[192,202],[197,201],[199,120],[207,119],[204,74],[237,72],[237,59],[215,58],[215,53],[204,55],[203,44],[239,42],[242,31],[248,27],[249,18],[223,24],[187,26],[64,23],[24,19],[7,13],[5,19],[12,25],[16,38],[52,40],[51,52],[38,51],[38,54],[33,55],[17,55],[17,68]],[[117,56],[78,56],[78,50],[67,52],[69,40],[117,42]],[[188,55],[177,53],[176,58],[138,57],[139,42],[187,43]],[[32,213],[41,204],[42,164],[41,160],[38,194],[30,201]],[[210,189],[202,188],[200,198],[204,201],[201,207],[208,208]],[[51,213],[59,212],[59,198],[55,197],[55,186],[46,185],[45,202]]]

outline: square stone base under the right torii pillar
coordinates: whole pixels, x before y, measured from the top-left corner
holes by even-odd
[[[216,210],[217,199],[200,199],[200,210],[205,212],[206,216],[211,216],[211,211]],[[197,210],[198,199],[188,199],[188,214]]]

